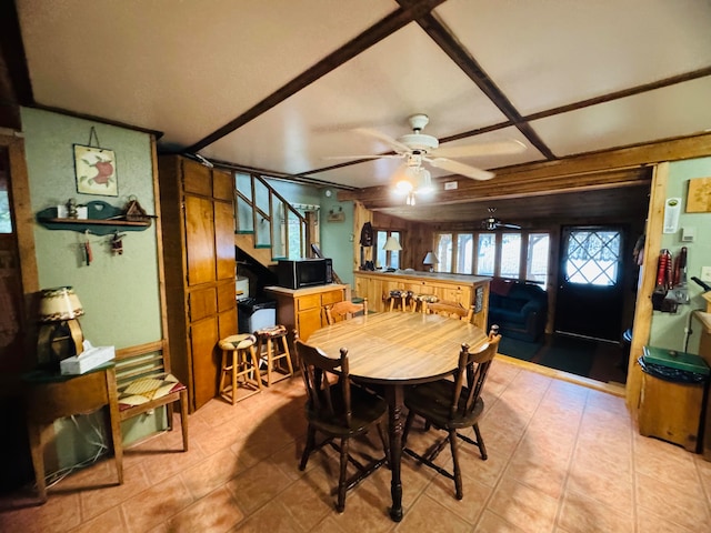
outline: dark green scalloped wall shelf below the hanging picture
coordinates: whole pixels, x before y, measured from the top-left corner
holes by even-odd
[[[48,230],[69,230],[97,235],[108,235],[119,231],[144,231],[151,225],[148,220],[126,220],[126,213],[113,205],[94,200],[87,204],[87,219],[57,218],[57,208],[47,208],[37,213],[37,221]]]

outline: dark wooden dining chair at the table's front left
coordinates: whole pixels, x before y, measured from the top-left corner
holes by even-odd
[[[299,469],[304,470],[309,455],[326,444],[339,451],[340,473],[336,509],[342,512],[346,509],[346,492],[387,462],[388,445],[383,424],[388,405],[381,398],[358,386],[351,386],[347,349],[340,350],[340,359],[331,359],[300,339],[296,340],[294,345],[307,389],[307,443]],[[369,457],[368,464],[362,464],[362,459],[359,461],[349,453],[349,441],[367,433],[373,425],[378,428],[385,454],[381,459]],[[324,440],[318,444],[317,431],[324,435]],[[347,477],[349,462],[358,469],[358,473],[351,477]]]

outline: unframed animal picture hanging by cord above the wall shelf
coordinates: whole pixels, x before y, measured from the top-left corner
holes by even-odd
[[[89,144],[74,144],[74,172],[77,192],[103,197],[119,195],[119,179],[116,171],[116,154],[99,145],[94,127],[89,132]]]

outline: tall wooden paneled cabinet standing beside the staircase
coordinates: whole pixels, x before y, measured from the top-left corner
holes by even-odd
[[[217,394],[218,341],[237,332],[233,179],[177,155],[159,159],[168,339],[190,411]]]

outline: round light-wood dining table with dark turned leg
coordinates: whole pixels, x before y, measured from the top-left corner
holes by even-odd
[[[402,520],[403,389],[450,375],[457,369],[462,344],[477,348],[487,334],[462,321],[410,312],[384,312],[337,322],[313,332],[306,342],[339,359],[348,349],[350,375],[382,385],[388,401],[392,506],[390,517]]]

